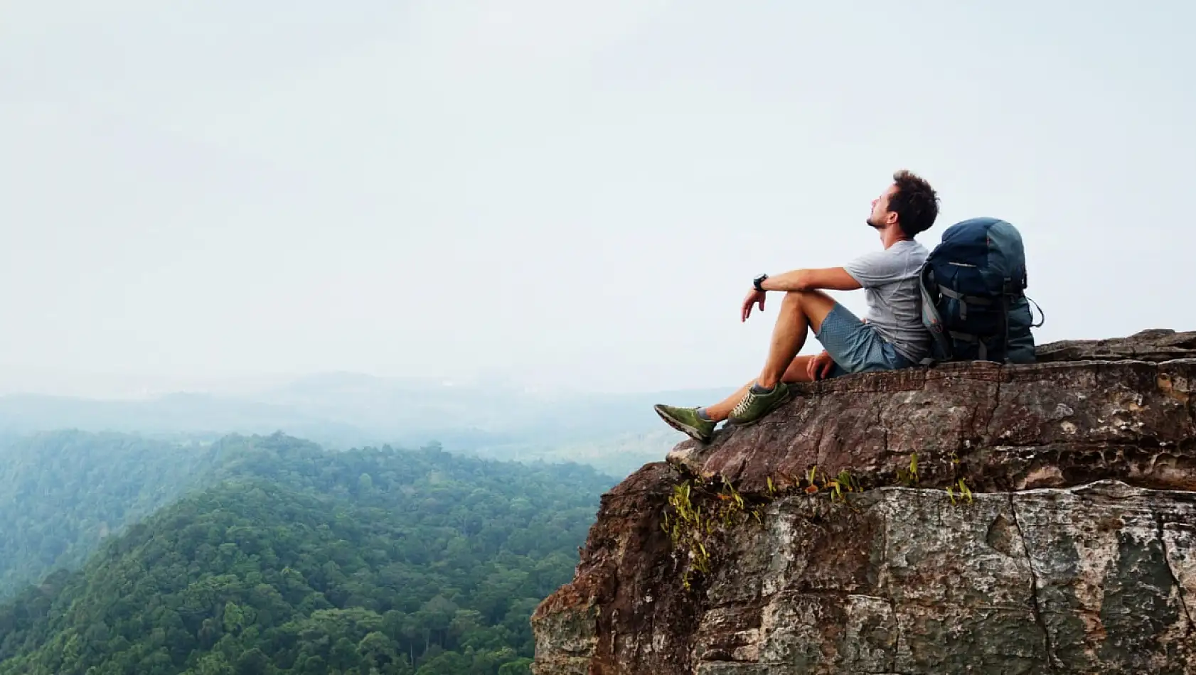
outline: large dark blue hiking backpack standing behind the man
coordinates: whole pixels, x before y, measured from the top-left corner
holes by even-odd
[[[920,282],[922,323],[934,336],[929,361],[1035,361],[1031,329],[1042,321],[1033,323],[1025,296],[1026,256],[1015,227],[995,217],[952,225]]]

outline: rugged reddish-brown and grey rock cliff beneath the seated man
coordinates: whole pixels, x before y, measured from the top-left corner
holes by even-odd
[[[1192,349],[853,375],[682,443],[603,497],[533,669],[1196,674]]]

